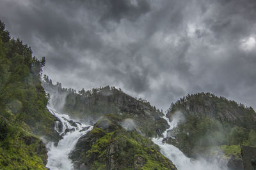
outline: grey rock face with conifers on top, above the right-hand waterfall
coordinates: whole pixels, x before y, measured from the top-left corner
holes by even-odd
[[[166,116],[172,120],[175,111],[181,111],[185,117],[187,115],[210,117],[220,122],[256,129],[256,113],[252,107],[247,108],[243,104],[210,93],[202,92],[180,98],[172,104]]]

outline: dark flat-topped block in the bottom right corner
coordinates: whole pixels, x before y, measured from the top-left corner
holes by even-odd
[[[241,146],[244,170],[256,169],[256,148]]]

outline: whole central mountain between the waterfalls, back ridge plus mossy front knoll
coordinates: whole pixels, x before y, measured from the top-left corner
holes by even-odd
[[[76,93],[62,88],[61,83],[53,85],[47,76],[42,85],[51,94],[52,107],[76,120],[96,122],[70,153],[75,169],[176,169],[145,138],[162,136],[169,127],[163,113],[147,101],[115,87]]]

